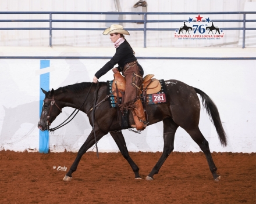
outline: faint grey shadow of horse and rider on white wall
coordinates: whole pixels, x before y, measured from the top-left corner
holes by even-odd
[[[66,53],[61,53],[61,56],[67,55]],[[88,72],[86,71],[86,66],[80,60],[65,60],[69,64],[69,74],[66,79],[64,79],[59,86],[66,86],[67,84],[73,83],[73,80],[78,81],[88,81]],[[83,72],[77,77],[77,71]],[[10,77],[9,72],[6,72],[5,77]],[[15,85],[15,81],[13,81]],[[13,94],[16,96],[20,95],[19,89],[15,86],[12,86]],[[38,92],[39,92],[38,88]],[[41,91],[41,90],[40,90]],[[0,145],[4,147],[6,143],[19,143],[24,140],[26,137],[35,135],[38,136],[39,130],[37,130],[37,122],[40,118],[39,104],[42,101],[36,100],[26,104],[19,104],[16,107],[7,108],[2,105],[3,115],[2,115],[2,127],[0,129]],[[7,106],[7,105],[6,105]],[[71,108],[70,108],[71,109]],[[73,110],[72,110],[73,111]],[[58,119],[54,122],[53,125],[59,125],[59,123],[65,121],[65,119],[70,115],[68,108],[63,109],[63,114],[59,116]],[[37,114],[38,113],[38,114]],[[87,122],[87,117],[83,112],[79,112],[76,117],[63,129],[62,136],[72,136],[72,135],[83,135],[84,131],[88,128],[91,128],[90,123]],[[55,132],[55,136],[58,136],[58,132]],[[51,140],[51,136],[50,136]],[[71,143],[71,144],[70,144]],[[76,141],[70,140],[70,146]],[[29,145],[28,145],[29,146]]]

